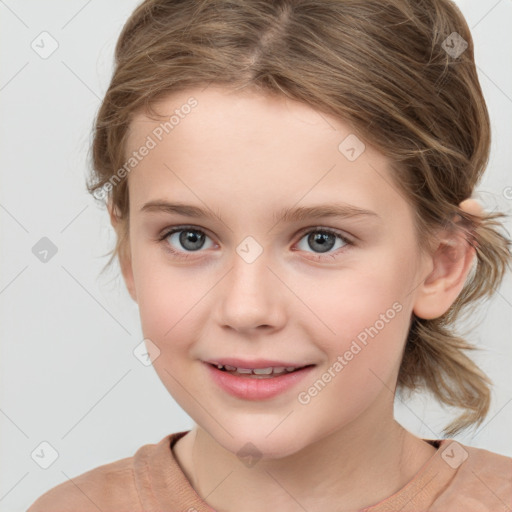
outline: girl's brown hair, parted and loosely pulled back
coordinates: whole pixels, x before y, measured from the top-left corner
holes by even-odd
[[[457,34],[453,34],[457,33]],[[449,38],[449,36],[451,38]],[[449,39],[447,39],[449,38]],[[461,39],[462,38],[462,39]],[[447,43],[443,43],[444,41]],[[461,54],[450,48],[467,48]],[[460,53],[460,52],[459,52]],[[479,425],[489,378],[464,354],[455,321],[491,296],[511,263],[503,213],[462,211],[487,166],[488,111],[467,23],[450,0],[146,0],[117,42],[115,69],[95,121],[91,181],[99,192],[126,162],[134,113],[173,92],[211,83],[285,95],[348,122],[387,156],[414,207],[421,250],[435,230],[462,230],[476,268],[440,318],[412,315],[397,391],[430,390],[463,409],[444,429]],[[128,250],[127,179],[107,190],[120,221],[107,266]],[[455,224],[459,215],[462,223]]]

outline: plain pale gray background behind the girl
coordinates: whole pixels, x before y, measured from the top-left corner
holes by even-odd
[[[193,425],[152,367],[133,355],[143,339],[137,305],[117,264],[99,276],[115,238],[107,213],[85,191],[93,117],[117,36],[137,4],[0,1],[1,511],[26,510],[68,478]],[[457,4],[472,29],[492,119],[492,157],[479,197],[486,208],[510,213],[512,1]],[[31,47],[43,31],[58,42],[46,59]],[[57,248],[46,263],[32,250],[43,237]],[[475,315],[481,323],[469,337],[484,349],[473,357],[495,383],[492,410],[476,433],[457,437],[508,456],[511,318],[509,274]],[[397,400],[396,417],[426,438],[441,437],[449,419],[429,396]],[[58,452],[47,469],[31,456],[42,442]]]

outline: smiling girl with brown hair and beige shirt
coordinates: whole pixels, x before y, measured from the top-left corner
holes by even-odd
[[[89,190],[195,426],[30,512],[510,510],[512,458],[453,439],[490,402],[454,325],[511,262],[489,146],[449,0],[143,2]],[[394,420],[417,389],[462,409],[446,439]]]

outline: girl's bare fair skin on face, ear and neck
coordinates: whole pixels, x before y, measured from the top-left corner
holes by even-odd
[[[155,370],[196,424],[174,446],[175,457],[219,511],[375,504],[435,453],[394,420],[394,389],[412,313],[436,318],[450,307],[474,249],[440,232],[437,250],[420,254],[413,212],[392,185],[387,160],[366,144],[349,161],[338,146],[353,130],[341,120],[283,97],[213,86],[169,96],[159,111],[170,115],[190,96],[197,107],[128,175],[129,252],[121,261],[144,336],[160,350]],[[139,113],[128,154],[159,124]],[[152,200],[210,209],[222,220],[141,212]],[[272,217],[284,206],[326,202],[379,218],[276,224]],[[461,207],[478,210],[473,201]],[[190,225],[206,235],[197,251],[180,244],[179,233],[157,241],[169,227]],[[354,245],[335,239],[322,253],[306,228],[337,230]],[[263,250],[250,264],[236,252],[247,236]],[[177,259],[166,246],[190,258]],[[400,313],[317,396],[299,403],[298,393],[394,303]],[[223,356],[316,367],[291,391],[247,401],[219,389],[201,362]],[[252,467],[237,456],[249,441],[262,456]]]

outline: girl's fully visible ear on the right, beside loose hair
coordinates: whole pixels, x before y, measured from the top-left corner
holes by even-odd
[[[418,287],[413,312],[430,320],[442,316],[459,296],[472,268],[475,248],[464,231],[442,231],[435,253],[428,258],[431,273]]]

